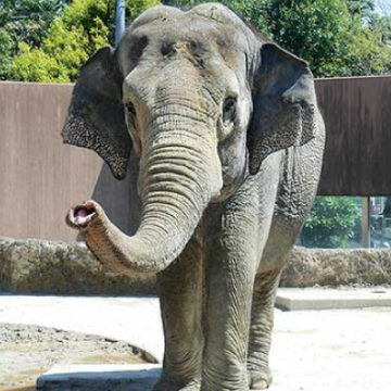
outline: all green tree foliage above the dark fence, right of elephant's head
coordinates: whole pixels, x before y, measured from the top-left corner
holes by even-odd
[[[390,71],[391,49],[365,22],[371,10],[371,1],[272,0],[267,14],[274,39],[316,77],[340,77]]]

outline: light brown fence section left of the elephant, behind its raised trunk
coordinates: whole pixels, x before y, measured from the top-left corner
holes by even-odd
[[[131,231],[130,178],[115,180],[94,152],[62,143],[72,88],[0,83],[0,236],[72,241],[65,212],[91,197]]]

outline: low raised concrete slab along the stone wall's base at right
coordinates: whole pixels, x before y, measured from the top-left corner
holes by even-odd
[[[391,306],[391,288],[280,288],[276,306],[280,310],[342,310]]]

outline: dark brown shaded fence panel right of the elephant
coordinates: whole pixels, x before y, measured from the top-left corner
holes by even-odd
[[[327,142],[319,194],[391,194],[391,77],[316,80]]]

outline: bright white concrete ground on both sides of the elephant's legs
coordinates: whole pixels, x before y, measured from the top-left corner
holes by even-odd
[[[163,352],[154,298],[0,295],[0,323],[101,335],[157,358]],[[386,391],[391,383],[391,307],[276,310],[270,364],[272,391]]]

